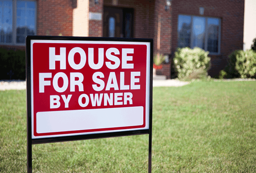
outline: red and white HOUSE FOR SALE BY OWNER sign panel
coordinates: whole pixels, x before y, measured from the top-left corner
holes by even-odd
[[[31,40],[32,139],[149,127],[150,42]]]

